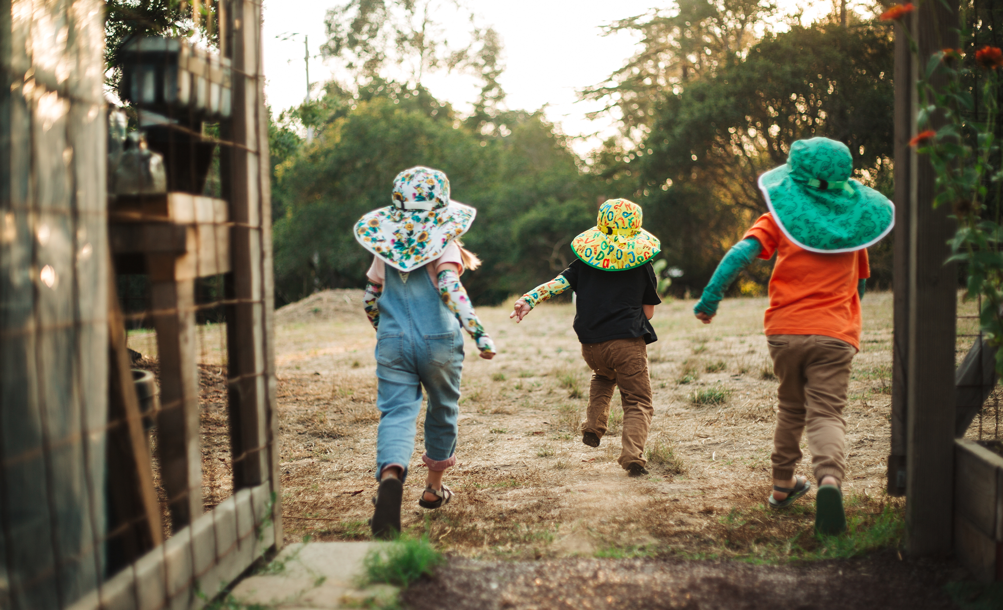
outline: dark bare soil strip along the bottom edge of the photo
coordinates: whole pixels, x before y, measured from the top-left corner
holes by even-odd
[[[947,568],[947,569],[945,569]],[[677,559],[458,559],[412,585],[412,610],[686,608],[845,610],[954,608],[943,586],[957,569],[894,553],[801,566]]]

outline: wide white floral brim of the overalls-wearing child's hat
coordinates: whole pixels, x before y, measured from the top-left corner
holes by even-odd
[[[406,273],[442,256],[476,215],[474,208],[456,201],[427,211],[387,206],[359,219],[352,233],[363,248]]]

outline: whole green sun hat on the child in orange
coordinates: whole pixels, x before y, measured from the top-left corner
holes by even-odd
[[[783,234],[805,250],[853,252],[895,226],[887,197],[850,178],[854,158],[827,137],[790,144],[787,163],[759,177],[759,190]]]

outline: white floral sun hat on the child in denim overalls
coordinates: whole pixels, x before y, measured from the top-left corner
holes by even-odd
[[[392,201],[359,219],[353,233],[363,248],[405,273],[442,256],[477,214],[449,199],[445,174],[421,166],[397,175]]]

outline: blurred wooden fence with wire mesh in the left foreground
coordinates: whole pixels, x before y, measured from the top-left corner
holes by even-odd
[[[201,608],[281,546],[261,4],[207,6],[215,48],[130,42],[123,154],[104,4],[0,2],[0,609]]]

